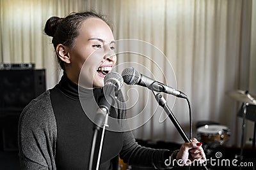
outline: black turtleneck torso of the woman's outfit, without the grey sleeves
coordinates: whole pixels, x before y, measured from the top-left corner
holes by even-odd
[[[102,88],[78,89],[65,74],[51,90],[51,103],[57,125],[57,169],[88,169],[94,125],[91,119],[97,111],[97,101],[101,95]],[[111,116],[116,117],[115,115],[116,111],[111,109]],[[118,124],[117,120],[114,123]],[[101,135],[97,141],[100,141],[100,137]],[[112,160],[115,158],[116,161],[122,143],[122,133],[106,131],[100,169],[112,169]],[[96,150],[95,156],[97,155]]]

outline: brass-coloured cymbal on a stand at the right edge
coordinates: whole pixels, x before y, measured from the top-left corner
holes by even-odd
[[[243,90],[227,92],[227,96],[232,97],[233,99],[236,99],[237,101],[241,101],[243,103],[256,105],[256,97],[251,96],[251,94],[246,93],[246,91],[243,91]]]

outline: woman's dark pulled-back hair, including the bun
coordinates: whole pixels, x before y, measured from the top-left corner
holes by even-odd
[[[72,48],[74,46],[74,39],[79,36],[81,24],[88,18],[100,18],[106,22],[113,31],[113,27],[108,23],[106,15],[86,11],[82,13],[70,13],[70,15],[65,18],[51,17],[45,24],[44,32],[48,36],[52,36],[52,44],[55,50],[56,46],[59,44]],[[65,71],[64,63],[59,57],[57,58],[61,68]]]

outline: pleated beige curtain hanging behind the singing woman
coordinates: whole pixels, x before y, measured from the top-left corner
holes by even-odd
[[[228,145],[239,145],[241,118],[236,114],[241,103],[225,92],[256,92],[254,1],[0,0],[0,5],[0,62],[33,62],[36,68],[45,68],[51,89],[61,73],[51,38],[43,33],[46,20],[72,11],[99,11],[115,25],[116,71],[136,67],[182,90],[191,102],[193,136],[196,122],[211,120],[230,128]],[[122,91],[136,138],[183,142],[152,92],[136,85],[124,85]],[[186,100],[164,97],[188,134]],[[246,140],[252,129],[249,122]]]

